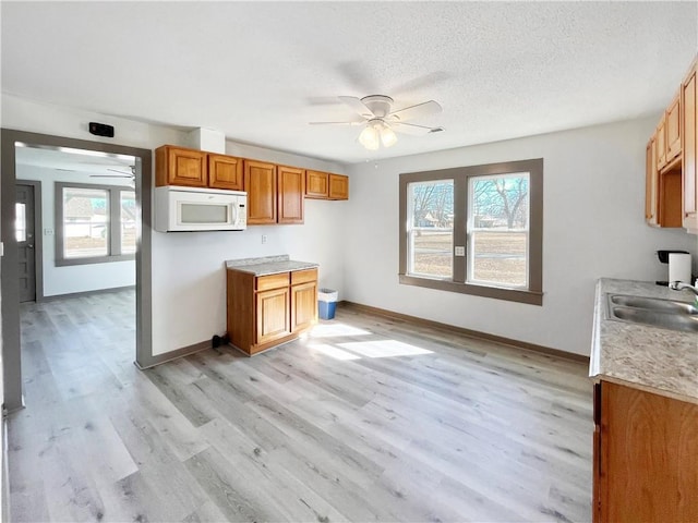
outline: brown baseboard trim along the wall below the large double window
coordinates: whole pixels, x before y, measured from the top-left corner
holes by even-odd
[[[565,360],[571,360],[574,362],[589,364],[589,356],[583,354],[575,354],[573,352],[561,351],[559,349],[553,349],[550,346],[538,345],[535,343],[529,343],[526,341],[513,340],[512,338],[505,338],[503,336],[490,335],[488,332],[481,332],[479,330],[466,329],[464,327],[456,327],[455,325],[442,324],[441,321],[433,321],[431,319],[419,318],[417,316],[410,316],[408,314],[396,313],[387,311],[385,308],[372,307],[370,305],[363,305],[361,303],[349,302],[342,300],[337,304],[339,307],[353,308],[363,313],[374,314],[386,318],[398,319],[400,321],[409,321],[411,324],[421,325],[424,327],[431,327],[433,329],[445,330],[447,332],[454,332],[468,338],[476,338],[479,340],[493,341],[503,345],[514,346],[516,349],[522,349],[526,351],[537,352],[546,356],[562,357]]]

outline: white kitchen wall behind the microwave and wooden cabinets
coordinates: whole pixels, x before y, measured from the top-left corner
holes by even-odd
[[[115,138],[87,132],[89,121],[115,125]],[[36,104],[2,95],[3,127],[72,138],[155,149],[185,145],[186,130]],[[192,122],[192,127],[197,122]],[[229,154],[316,170],[344,172],[336,163],[285,153],[226,144]],[[153,169],[155,172],[155,169]],[[240,232],[153,232],[153,354],[158,355],[210,339],[226,330],[226,259],[289,254],[320,264],[320,284],[341,289],[342,239],[338,230],[346,202],[306,202],[302,226],[250,227]],[[262,244],[262,234],[267,243]]]

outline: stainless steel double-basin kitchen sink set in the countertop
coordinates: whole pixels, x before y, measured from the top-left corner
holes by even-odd
[[[698,332],[698,307],[659,297],[609,294],[609,318],[669,330]]]

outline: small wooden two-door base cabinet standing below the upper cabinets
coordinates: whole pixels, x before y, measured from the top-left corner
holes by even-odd
[[[228,336],[249,355],[293,340],[317,323],[317,269],[226,272]]]

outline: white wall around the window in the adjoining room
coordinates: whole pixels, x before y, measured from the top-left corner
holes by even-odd
[[[41,228],[35,234],[43,236],[44,296],[135,285],[134,260],[57,267],[56,236],[46,234],[47,229],[56,232],[55,182],[124,185],[119,179],[95,181],[84,172],[64,172],[24,165],[16,166],[16,177],[19,180],[41,182]]]

